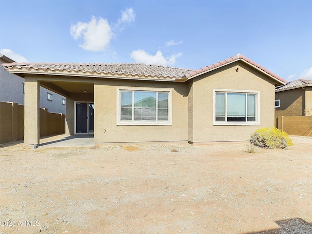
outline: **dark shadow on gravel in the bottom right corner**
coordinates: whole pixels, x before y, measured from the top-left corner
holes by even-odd
[[[301,218],[290,218],[275,221],[280,228],[245,234],[312,234],[312,223]]]

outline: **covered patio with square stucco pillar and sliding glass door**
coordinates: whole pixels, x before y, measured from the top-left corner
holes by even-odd
[[[92,81],[86,82],[83,78],[72,76],[28,74],[20,74],[20,76],[25,78],[24,142],[26,145],[52,146],[52,143],[47,144],[39,137],[40,86],[66,97],[66,137],[54,142],[53,147],[94,144],[94,83]],[[79,137],[81,134],[82,137]],[[89,134],[90,136],[86,136]],[[89,141],[86,143],[83,139]]]

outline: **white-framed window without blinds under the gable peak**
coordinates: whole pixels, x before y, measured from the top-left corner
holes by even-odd
[[[214,89],[214,125],[258,125],[259,91]]]

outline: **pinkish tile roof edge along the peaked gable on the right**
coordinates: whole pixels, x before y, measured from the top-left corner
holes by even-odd
[[[263,72],[269,74],[270,76],[272,76],[273,78],[276,78],[278,79],[279,81],[281,81],[282,83],[287,83],[287,81],[279,76],[277,76],[276,74],[274,74],[273,72],[269,71],[268,69],[266,69],[265,67],[261,66],[260,64],[254,62],[253,60],[241,55],[241,54],[237,54],[237,55],[234,55],[232,56],[231,58],[228,58],[228,59],[223,59],[222,61],[219,61],[219,62],[216,62],[214,64],[211,64],[211,65],[208,65],[206,67],[203,67],[203,68],[200,68],[200,69],[197,69],[195,71],[192,71],[190,72],[189,74],[186,75],[186,78],[192,78],[193,76],[195,75],[199,75],[203,72],[207,72],[209,70],[214,70],[220,66],[223,66],[223,65],[226,65],[228,63],[232,63],[236,60],[244,60],[252,65],[254,65],[255,67],[259,68],[260,70],[262,70]]]

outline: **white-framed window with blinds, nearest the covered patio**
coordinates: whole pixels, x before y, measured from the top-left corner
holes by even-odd
[[[117,88],[117,94],[118,125],[171,124],[171,90]]]

